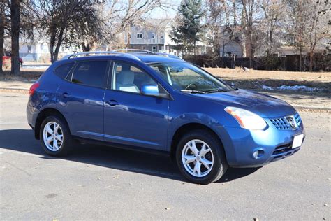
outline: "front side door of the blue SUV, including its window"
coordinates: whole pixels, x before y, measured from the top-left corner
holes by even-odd
[[[105,141],[165,150],[168,99],[140,94],[142,85],[157,85],[140,67],[115,62],[105,92]]]

